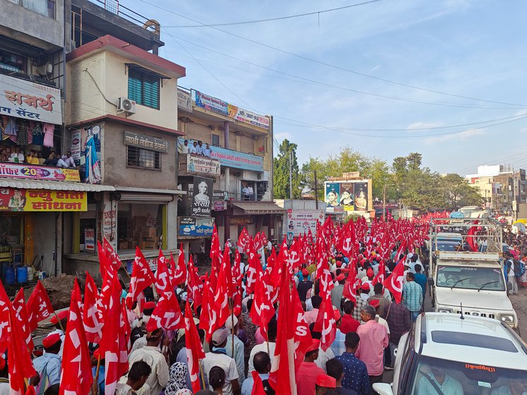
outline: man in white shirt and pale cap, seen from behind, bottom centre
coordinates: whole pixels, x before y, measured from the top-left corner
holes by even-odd
[[[227,356],[225,345],[227,344],[229,331],[225,328],[216,329],[212,334],[212,350],[205,354],[203,359],[203,370],[207,377],[214,366],[219,366],[225,371],[225,384],[223,386],[223,395],[239,395],[240,387],[238,382],[238,371],[233,358]],[[209,387],[212,389],[212,387]]]

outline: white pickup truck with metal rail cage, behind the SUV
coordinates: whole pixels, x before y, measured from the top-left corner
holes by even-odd
[[[432,219],[429,237],[434,311],[493,318],[516,329],[518,317],[507,295],[511,284],[504,277],[501,225],[489,218]]]

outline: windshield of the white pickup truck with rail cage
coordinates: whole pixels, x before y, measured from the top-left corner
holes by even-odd
[[[502,270],[498,267],[437,267],[437,286],[475,289],[482,291],[505,291]]]

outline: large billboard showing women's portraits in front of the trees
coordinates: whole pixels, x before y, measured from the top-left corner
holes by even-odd
[[[373,209],[371,180],[326,181],[326,212],[355,212]]]

